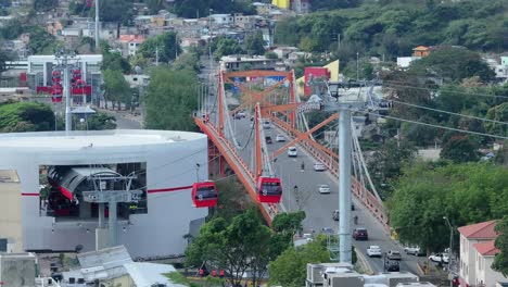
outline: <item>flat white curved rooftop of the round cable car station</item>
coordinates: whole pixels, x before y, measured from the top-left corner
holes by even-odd
[[[203,134],[152,129],[73,130],[0,134],[0,149],[80,149],[87,147],[139,147],[190,141]]]

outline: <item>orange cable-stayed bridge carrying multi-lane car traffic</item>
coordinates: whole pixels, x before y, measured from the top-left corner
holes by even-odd
[[[340,98],[341,86],[335,86],[323,83],[315,96],[303,101],[292,71],[219,72],[216,92],[200,95],[200,110],[194,115],[196,125],[208,136],[211,170],[217,167],[220,175],[227,167],[233,171],[269,224],[280,212],[303,210],[305,234],[336,236],[345,226],[347,232],[342,236],[353,240],[366,259],[371,245],[380,246],[383,252],[401,250],[390,237],[388,216],[374,187],[369,186],[373,192],[365,187],[370,178],[354,133],[351,148],[345,148],[352,154],[347,192],[353,199],[347,209],[340,207],[339,154],[331,142],[326,147],[315,140],[325,129],[338,130],[340,113],[323,109],[327,100]],[[371,96],[355,101],[370,108],[377,103]],[[309,126],[306,113],[310,111],[327,117]],[[336,141],[338,136],[331,140]],[[220,190],[216,192],[220,197]],[[341,216],[342,210],[345,214]],[[340,226],[341,219],[347,223]],[[366,241],[352,239],[354,229],[360,227],[368,230]],[[401,270],[416,272],[415,257],[404,257]],[[385,270],[383,259],[368,261],[372,272]]]

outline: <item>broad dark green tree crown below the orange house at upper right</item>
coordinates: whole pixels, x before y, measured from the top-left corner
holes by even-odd
[[[445,47],[428,57],[415,61],[409,66],[418,75],[443,77],[448,82],[479,76],[483,80],[494,77],[494,71],[481,59],[480,54],[463,48]]]

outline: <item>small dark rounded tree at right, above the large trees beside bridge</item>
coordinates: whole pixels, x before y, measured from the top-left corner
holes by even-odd
[[[466,136],[453,136],[444,144],[441,158],[455,163],[478,161],[478,146]]]

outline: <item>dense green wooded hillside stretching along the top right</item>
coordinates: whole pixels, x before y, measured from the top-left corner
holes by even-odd
[[[313,1],[312,8],[319,12],[278,21],[275,41],[312,52],[336,51],[342,63],[354,61],[354,54],[341,51],[350,50],[348,46],[355,47],[354,53],[390,60],[410,55],[419,45],[496,52],[508,49],[508,7],[504,0],[322,0]]]

